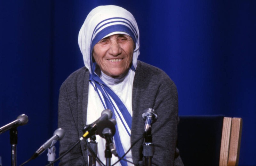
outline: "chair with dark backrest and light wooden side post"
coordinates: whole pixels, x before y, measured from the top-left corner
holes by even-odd
[[[178,144],[184,165],[238,165],[242,118],[180,116]]]

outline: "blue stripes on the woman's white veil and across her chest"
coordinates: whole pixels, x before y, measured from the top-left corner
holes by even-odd
[[[110,19],[124,19],[124,18],[110,18]],[[106,19],[106,20],[110,20],[110,19]],[[98,43],[103,37],[105,37],[108,34],[113,33],[113,32],[125,32],[125,33],[127,33],[129,36],[131,36],[131,38],[132,38],[132,40],[133,40],[133,42],[135,44],[137,42],[138,36],[137,36],[137,32],[136,32],[134,26],[131,24],[131,22],[129,20],[124,19],[124,20],[128,21],[130,24],[128,24],[125,21],[116,20],[116,21],[111,21],[111,22],[108,22],[108,23],[105,23],[105,24],[99,26],[102,22],[104,22],[106,20],[101,21],[95,27],[95,29],[93,31],[93,35],[95,33],[97,33],[97,31],[101,27],[106,26],[107,24],[110,24],[110,23],[118,23],[118,22],[120,22],[120,23],[124,23],[126,25],[116,24],[116,25],[107,26],[104,29],[102,29],[100,32],[98,32],[95,35],[95,37],[91,40],[91,48],[90,48],[91,49],[91,57],[90,57],[90,60],[91,60],[92,74],[90,74],[90,81],[94,82],[95,87],[94,86],[93,87],[94,87],[95,91],[98,93],[104,108],[105,109],[106,108],[111,109],[113,114],[114,114],[114,116],[113,116],[114,119],[116,119],[116,117],[119,117],[121,119],[122,124],[124,125],[124,122],[123,122],[123,120],[121,118],[121,115],[119,114],[119,112],[117,111],[117,108],[115,107],[114,103],[110,99],[110,97],[111,97],[114,100],[114,102],[116,103],[116,106],[118,107],[119,111],[122,113],[126,124],[128,125],[128,127],[131,130],[131,127],[132,127],[132,116],[130,115],[128,109],[125,107],[125,105],[121,101],[121,99],[99,78],[98,75],[96,75],[94,73],[94,71],[96,69],[96,63],[92,62],[92,50],[93,50],[93,47],[94,47],[94,45],[96,43]],[[135,68],[134,68],[133,65],[131,66],[131,69],[133,71],[135,71]],[[92,84],[92,82],[91,82],[91,84]],[[101,96],[99,94],[99,91],[103,95],[103,99],[101,98]],[[115,115],[115,112],[116,112],[117,115]],[[122,143],[121,143],[121,139],[120,139],[120,135],[119,135],[119,132],[118,132],[117,125],[115,127],[116,127],[116,134],[114,135],[114,140],[115,140],[115,143],[116,143],[116,151],[117,151],[117,153],[120,156],[123,156],[124,153],[125,153],[124,152],[124,148],[123,148]],[[126,128],[126,125],[124,125],[124,128],[125,128],[126,132],[128,133],[128,135],[131,136],[129,131],[128,131],[128,129]],[[126,159],[126,157],[124,157],[124,159]],[[127,162],[125,162],[123,160],[121,160],[120,163],[121,163],[122,166],[127,166]]]

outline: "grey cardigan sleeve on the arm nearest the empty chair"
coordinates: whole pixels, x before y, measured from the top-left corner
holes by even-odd
[[[172,81],[166,87],[164,84],[159,86],[153,106],[158,119],[152,127],[152,162],[155,165],[183,165],[176,148],[179,121],[177,88]]]

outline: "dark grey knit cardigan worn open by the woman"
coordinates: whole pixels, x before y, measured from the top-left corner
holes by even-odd
[[[65,153],[83,135],[86,124],[89,71],[85,67],[72,73],[60,87],[58,127],[65,130],[60,140],[60,155]],[[178,94],[174,82],[161,69],[138,61],[132,89],[131,145],[143,133],[142,113],[153,108],[158,114],[152,125],[154,144],[153,165],[183,165],[176,148],[178,125]],[[144,165],[143,139],[132,147],[132,159]],[[102,152],[104,153],[104,152]],[[105,162],[105,161],[103,161]],[[86,165],[87,147],[81,141],[60,162],[60,165]]]

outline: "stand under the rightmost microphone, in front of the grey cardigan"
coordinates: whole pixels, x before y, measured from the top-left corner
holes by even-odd
[[[145,159],[145,166],[152,165],[152,157],[153,157],[153,143],[152,143],[152,135],[151,128],[145,133],[145,143],[143,144],[143,155]]]

